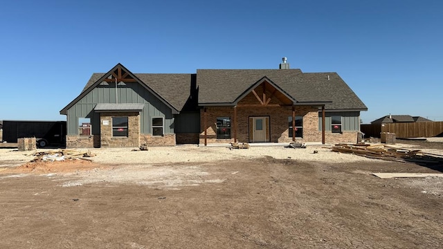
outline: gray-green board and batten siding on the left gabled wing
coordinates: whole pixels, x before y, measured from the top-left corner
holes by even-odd
[[[138,82],[126,82],[118,84],[118,103],[141,103],[145,107],[140,113],[140,132],[152,133],[152,118],[164,118],[163,132],[174,133],[174,116],[172,110],[166,104],[156,98]],[[68,135],[78,134],[78,118],[91,118],[92,133],[100,134],[100,113],[93,111],[96,104],[116,103],[115,84],[100,84],[87,93],[81,100],[67,111]]]

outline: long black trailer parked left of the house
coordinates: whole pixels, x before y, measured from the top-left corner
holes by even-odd
[[[38,147],[66,146],[66,121],[3,120],[3,141],[36,138]]]

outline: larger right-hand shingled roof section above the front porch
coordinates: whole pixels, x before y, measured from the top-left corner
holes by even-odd
[[[294,103],[325,102],[326,109],[368,109],[337,73],[302,73],[300,69],[199,69],[199,104],[235,104],[239,95],[263,77]]]

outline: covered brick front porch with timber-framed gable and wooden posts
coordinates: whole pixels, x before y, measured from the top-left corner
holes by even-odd
[[[324,125],[325,102],[297,102],[264,77],[233,103],[201,108],[200,144],[296,140],[324,144],[319,109]]]

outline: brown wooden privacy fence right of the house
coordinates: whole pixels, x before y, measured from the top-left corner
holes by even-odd
[[[380,137],[381,132],[395,133],[397,138],[432,138],[443,136],[443,122],[397,122],[361,124],[365,138]]]

